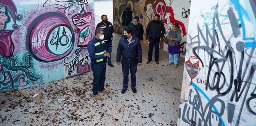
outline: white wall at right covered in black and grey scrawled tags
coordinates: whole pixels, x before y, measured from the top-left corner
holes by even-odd
[[[191,1],[179,126],[256,125],[256,1]]]

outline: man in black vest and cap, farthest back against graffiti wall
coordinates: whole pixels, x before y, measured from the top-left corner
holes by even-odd
[[[126,10],[120,16],[120,22],[122,23],[122,37],[124,36],[124,29],[132,23],[132,19],[134,18],[134,13],[131,11],[131,6],[127,5]]]

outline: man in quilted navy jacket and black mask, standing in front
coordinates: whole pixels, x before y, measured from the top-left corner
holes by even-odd
[[[118,43],[116,54],[117,65],[120,65],[121,56],[122,70],[124,74],[122,94],[124,94],[128,88],[129,71],[131,73],[131,89],[133,93],[136,93],[135,74],[137,72],[137,66],[142,64],[142,51],[139,38],[132,36],[132,30],[129,27],[125,28],[124,37],[120,38]]]

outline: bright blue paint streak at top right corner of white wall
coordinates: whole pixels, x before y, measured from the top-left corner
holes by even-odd
[[[249,20],[249,16],[248,13],[246,12],[246,10],[241,6],[241,4],[239,3],[239,0],[230,0],[231,3],[234,4],[234,7],[236,8],[236,11],[239,15],[239,19],[241,21],[241,26],[242,26],[242,31],[243,31],[243,40],[254,40],[254,37],[246,37],[246,29],[245,29],[245,24],[244,24],[244,20],[243,20],[243,16]]]

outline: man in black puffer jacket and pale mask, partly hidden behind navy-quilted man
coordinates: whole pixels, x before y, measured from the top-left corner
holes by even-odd
[[[143,40],[143,26],[141,25],[141,23],[139,23],[139,17],[135,16],[133,18],[133,22],[130,23],[128,25],[128,27],[130,27],[132,29],[132,36],[136,36],[137,38],[139,38],[140,40]]]

